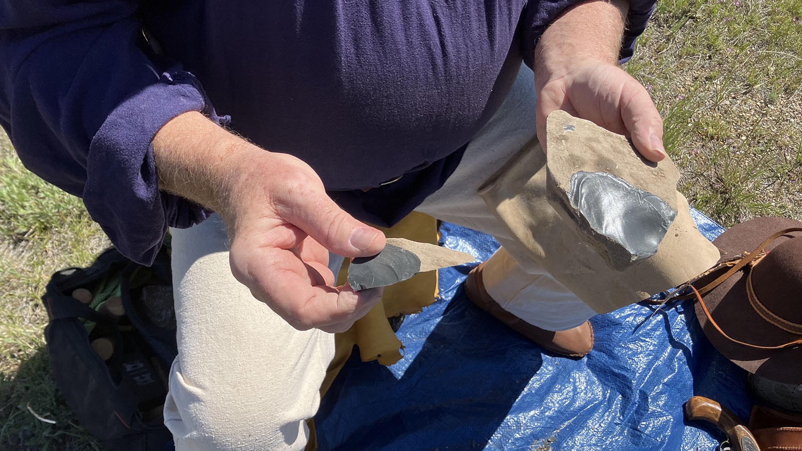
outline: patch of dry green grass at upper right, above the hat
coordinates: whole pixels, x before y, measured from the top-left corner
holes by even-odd
[[[627,65],[666,120],[680,191],[723,225],[802,218],[802,0],[666,0]]]

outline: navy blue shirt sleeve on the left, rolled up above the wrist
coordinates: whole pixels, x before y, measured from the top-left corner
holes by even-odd
[[[0,125],[28,169],[82,197],[128,258],[210,213],[161,193],[152,139],[173,117],[221,122],[200,83],[151,55],[125,0],[0,0]]]

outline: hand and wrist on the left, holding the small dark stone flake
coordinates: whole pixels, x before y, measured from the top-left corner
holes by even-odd
[[[381,289],[334,287],[331,250],[367,257],[385,238],[340,209],[314,170],[267,152],[190,112],[153,140],[162,189],[220,213],[233,237],[235,278],[299,330],[346,331],[381,299]]]

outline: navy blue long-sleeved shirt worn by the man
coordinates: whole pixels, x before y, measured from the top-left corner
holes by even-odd
[[[0,0],[0,124],[138,262],[209,214],[158,189],[152,138],[188,111],[298,156],[355,217],[391,225],[573,2]],[[622,59],[653,8],[634,0]]]

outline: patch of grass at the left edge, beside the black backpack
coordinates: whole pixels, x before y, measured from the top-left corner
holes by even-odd
[[[0,233],[0,449],[99,449],[51,376],[39,297],[53,272],[89,264],[107,240],[79,199],[22,167],[2,133]]]

